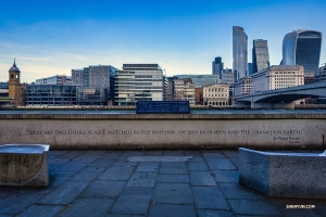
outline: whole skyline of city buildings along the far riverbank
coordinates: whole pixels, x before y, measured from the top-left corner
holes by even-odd
[[[167,77],[159,64],[90,65],[21,84],[14,61],[9,82],[0,82],[0,104],[14,106],[135,105],[137,101],[189,101],[192,105],[229,106],[235,97],[326,81],[319,65],[322,33],[294,30],[283,40],[283,60],[271,65],[267,40],[254,39],[248,62],[248,36],[233,27],[233,68],[222,56],[212,74]]]

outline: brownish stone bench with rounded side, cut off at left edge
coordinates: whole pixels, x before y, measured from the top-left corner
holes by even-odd
[[[49,144],[0,145],[0,186],[48,187]]]

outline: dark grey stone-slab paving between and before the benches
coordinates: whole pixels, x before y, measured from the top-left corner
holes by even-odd
[[[0,217],[326,216],[240,186],[237,151],[50,151],[49,168],[49,188],[0,187]]]

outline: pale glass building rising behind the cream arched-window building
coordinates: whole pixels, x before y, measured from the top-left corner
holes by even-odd
[[[196,88],[202,88],[205,85],[215,85],[220,82],[220,75],[175,75],[175,79],[191,78]]]

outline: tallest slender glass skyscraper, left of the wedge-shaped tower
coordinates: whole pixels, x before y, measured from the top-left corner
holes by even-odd
[[[240,26],[233,27],[233,60],[235,79],[246,77],[248,75],[248,37]]]

